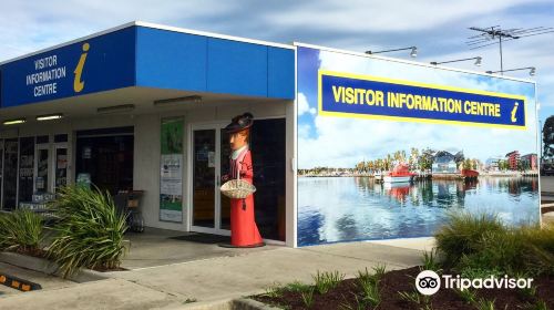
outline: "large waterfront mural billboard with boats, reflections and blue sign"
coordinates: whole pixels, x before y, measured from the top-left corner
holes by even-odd
[[[297,44],[298,246],[540,220],[535,84]]]

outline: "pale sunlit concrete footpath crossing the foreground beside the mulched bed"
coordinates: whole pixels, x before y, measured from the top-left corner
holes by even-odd
[[[263,292],[275,282],[311,282],[318,270],[353,277],[379,264],[387,269],[416,266],[420,258],[420,250],[371,242],[243,250],[235,256],[112,272],[112,279],[69,288],[3,296],[0,303],[6,309],[33,310],[37,304],[41,309],[186,309]]]

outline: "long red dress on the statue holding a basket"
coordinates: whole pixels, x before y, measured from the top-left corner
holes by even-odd
[[[253,183],[254,170],[248,148],[240,152],[236,159],[230,158],[229,167],[229,178],[237,178],[237,174],[240,174],[242,179]],[[230,199],[230,244],[249,247],[263,242],[254,217],[254,194],[244,199]]]

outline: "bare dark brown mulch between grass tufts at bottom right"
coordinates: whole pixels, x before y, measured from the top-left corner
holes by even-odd
[[[414,290],[414,279],[420,272],[419,267],[393,270],[384,273],[379,283],[381,302],[376,309],[421,309],[424,304],[417,304],[400,298],[399,292]],[[451,273],[451,272],[445,272]],[[527,297],[517,289],[475,289],[478,298],[494,300],[495,309],[525,309],[536,300],[546,302],[548,309],[554,309],[554,277],[535,278],[536,296]],[[314,292],[314,304],[310,309],[358,309],[356,298],[361,300],[361,290],[356,279],[342,280],[337,288],[326,294]],[[286,309],[307,309],[299,292],[286,291],[279,298],[264,294],[252,297],[260,302],[273,306],[286,306]],[[466,303],[453,289],[441,288],[430,297],[431,309],[475,309],[474,304]],[[371,309],[371,308],[367,308]]]

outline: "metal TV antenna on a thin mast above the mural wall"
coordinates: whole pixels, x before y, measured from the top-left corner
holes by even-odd
[[[504,65],[502,61],[502,42],[554,32],[554,28],[552,27],[535,27],[527,29],[512,28],[504,30],[500,25],[493,25],[489,28],[470,27],[470,29],[476,32],[481,32],[476,35],[468,38],[465,44],[470,46],[470,50],[476,50],[484,46],[499,44],[501,74],[504,72]]]

